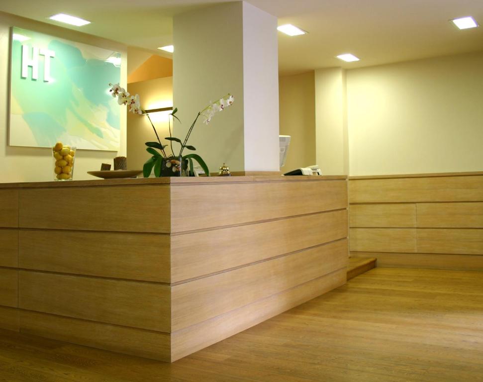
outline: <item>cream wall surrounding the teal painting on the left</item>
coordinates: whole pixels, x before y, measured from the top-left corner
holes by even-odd
[[[126,49],[123,45],[22,17],[0,12],[0,182],[41,182],[53,180],[52,151],[49,148],[7,146],[9,115],[10,27],[31,29],[65,39],[112,49],[122,54],[121,84],[126,83]],[[106,84],[107,85],[107,84]],[[112,151],[78,150],[74,179],[93,179],[87,171],[100,170],[101,163],[112,163],[112,158],[125,155],[126,119],[121,114],[121,148]]]

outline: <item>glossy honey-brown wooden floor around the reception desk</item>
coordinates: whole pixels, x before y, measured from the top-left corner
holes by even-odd
[[[0,331],[0,381],[483,381],[483,273],[376,268],[174,364]]]

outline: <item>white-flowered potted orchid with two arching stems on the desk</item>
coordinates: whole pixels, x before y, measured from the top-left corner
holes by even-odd
[[[170,136],[166,137],[165,139],[170,141],[170,149],[171,149],[171,154],[168,156],[166,153],[165,149],[168,145],[163,145],[161,143],[161,140],[159,139],[158,132],[156,131],[156,127],[154,126],[153,122],[151,121],[151,118],[149,117],[149,114],[146,113],[144,110],[141,109],[141,102],[139,99],[139,95],[130,95],[128,92],[126,92],[125,89],[121,88],[119,84],[109,84],[111,89],[109,92],[113,97],[117,97],[117,103],[119,105],[126,105],[128,107],[128,110],[134,114],[144,114],[148,117],[149,122],[151,123],[151,126],[153,127],[154,133],[157,138],[157,142],[146,142],[146,151],[151,154],[151,158],[149,158],[146,163],[144,163],[143,167],[143,176],[145,178],[149,177],[151,174],[151,171],[154,168],[154,175],[156,177],[162,176],[163,170],[166,173],[167,171],[172,171],[174,174],[171,175],[179,175],[177,174],[178,172],[181,172],[182,168],[188,167],[188,163],[190,164],[190,175],[194,175],[193,173],[193,159],[199,163],[201,168],[203,169],[204,173],[206,176],[209,177],[209,170],[208,167],[206,166],[206,163],[201,159],[201,157],[197,154],[186,154],[183,155],[183,151],[185,149],[188,150],[196,150],[193,146],[188,145],[188,139],[190,138],[191,133],[193,132],[194,125],[196,124],[196,121],[198,118],[201,116],[204,119],[204,123],[208,124],[211,121],[211,118],[213,117],[214,114],[216,114],[219,111],[223,111],[225,108],[231,106],[234,102],[234,97],[233,95],[227,94],[224,97],[221,97],[219,100],[216,102],[210,102],[203,110],[199,111],[194,118],[193,123],[191,124],[190,129],[188,130],[185,139],[182,141],[179,138],[173,137],[171,134],[171,119],[177,119],[180,123],[180,119],[176,116],[176,113],[178,112],[178,108],[174,108],[173,111],[170,113],[170,120],[169,120],[169,132]],[[178,155],[175,155],[175,151],[173,149],[173,142],[177,142],[181,145],[180,151]],[[159,151],[157,151],[159,150]]]

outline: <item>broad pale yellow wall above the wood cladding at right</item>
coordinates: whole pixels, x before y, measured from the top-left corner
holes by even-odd
[[[347,71],[350,175],[483,170],[483,52]]]

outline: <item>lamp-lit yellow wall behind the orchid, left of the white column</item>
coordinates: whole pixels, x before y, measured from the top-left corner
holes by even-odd
[[[128,85],[127,91],[131,94],[139,94],[141,107],[143,109],[173,106],[173,77],[135,82]],[[169,136],[169,113],[169,111],[164,111],[150,115],[163,144],[168,143],[163,138]],[[144,162],[150,157],[146,152],[146,146],[144,143],[151,141],[156,141],[156,134],[154,133],[153,127],[149,123],[148,118],[145,115],[128,113],[127,166],[129,169],[141,170],[143,168]],[[176,152],[179,149],[179,144],[173,142],[173,148]],[[168,151],[166,151],[167,154],[169,154]]]

